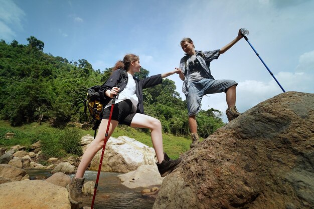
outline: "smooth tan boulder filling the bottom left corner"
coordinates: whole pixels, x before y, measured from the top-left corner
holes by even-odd
[[[70,209],[68,191],[43,180],[0,184],[0,208]]]

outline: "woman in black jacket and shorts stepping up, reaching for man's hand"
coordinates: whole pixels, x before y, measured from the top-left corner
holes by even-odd
[[[119,92],[112,112],[107,138],[111,136],[118,124],[125,124],[134,128],[149,128],[151,130],[150,135],[153,148],[158,159],[156,165],[161,176],[164,177],[174,170],[181,163],[182,159],[173,160],[164,153],[162,124],[158,119],[144,114],[142,90],[143,88],[153,87],[162,83],[163,78],[179,73],[179,70],[176,69],[172,72],[138,80],[133,76],[134,73],[140,72],[140,67],[138,56],[133,54],[125,55],[123,61],[118,61],[115,64],[112,75],[101,87],[100,94],[104,98],[113,98]],[[116,87],[117,84],[119,84],[119,88]],[[85,170],[95,154],[103,147],[110,109],[111,101],[103,110],[103,117],[96,138],[87,147],[75,176],[70,184],[67,185],[69,200],[74,204],[81,202],[79,199],[84,184]]]

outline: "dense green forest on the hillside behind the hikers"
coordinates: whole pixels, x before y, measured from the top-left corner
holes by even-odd
[[[85,59],[69,62],[43,52],[44,42],[31,36],[28,45],[13,40],[0,41],[0,117],[13,126],[49,121],[54,127],[70,122],[92,123],[84,114],[83,101],[87,88],[101,85],[112,68],[94,70]],[[136,75],[146,78],[149,71]],[[176,91],[174,81],[144,89],[144,109],[147,115],[161,120],[163,131],[176,135],[189,134],[186,101]],[[199,134],[207,137],[224,123],[221,112],[213,108],[197,116]]]

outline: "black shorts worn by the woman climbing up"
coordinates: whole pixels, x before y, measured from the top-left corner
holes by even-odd
[[[111,120],[119,121],[119,124],[131,125],[132,119],[136,112],[132,112],[132,102],[129,99],[123,100],[114,105]],[[109,119],[111,107],[103,110],[102,119]]]

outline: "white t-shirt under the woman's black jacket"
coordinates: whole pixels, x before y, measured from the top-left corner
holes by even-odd
[[[133,112],[136,112],[138,98],[135,93],[136,91],[135,81],[131,74],[127,73],[127,77],[128,77],[128,82],[125,88],[123,89],[123,91],[119,93],[118,99],[115,100],[115,104],[122,102],[123,100],[129,99],[131,100],[133,104]],[[111,103],[112,103],[112,100],[110,100],[110,102],[107,104],[105,108],[110,107]]]

